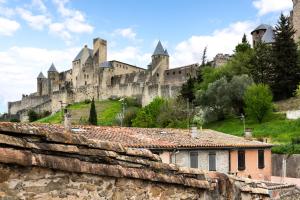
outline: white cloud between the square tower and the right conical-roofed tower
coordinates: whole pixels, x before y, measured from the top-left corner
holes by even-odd
[[[139,67],[146,67],[151,61],[151,54],[142,53],[138,47],[128,46],[121,50],[110,50],[108,60],[119,60]]]

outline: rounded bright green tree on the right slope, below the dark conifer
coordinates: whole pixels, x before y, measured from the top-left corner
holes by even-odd
[[[261,123],[272,111],[272,99],[269,86],[253,84],[248,87],[244,96],[246,114]]]

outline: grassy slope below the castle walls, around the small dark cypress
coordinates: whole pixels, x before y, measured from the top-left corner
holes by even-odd
[[[96,101],[96,110],[98,117],[98,125],[111,126],[115,125],[116,115],[121,112],[121,102],[119,101]],[[84,124],[87,123],[90,112],[90,103],[75,103],[70,105],[68,109],[72,115],[72,123]],[[51,116],[38,120],[42,123],[57,124],[62,121],[62,112],[57,112]]]

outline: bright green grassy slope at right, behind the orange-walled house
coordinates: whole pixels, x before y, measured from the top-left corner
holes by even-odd
[[[210,123],[205,125],[205,128],[237,136],[243,135],[243,122],[239,118]],[[268,137],[277,144],[287,144],[292,138],[300,137],[300,120],[287,120],[283,114],[273,114],[261,124],[246,119],[246,128],[252,129],[254,137]]]

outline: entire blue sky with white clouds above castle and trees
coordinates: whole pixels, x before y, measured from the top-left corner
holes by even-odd
[[[36,90],[53,62],[59,71],[85,44],[108,41],[108,58],[147,66],[158,40],[171,67],[232,53],[260,23],[274,25],[292,0],[0,0],[0,113]],[[250,39],[250,36],[249,36]]]

